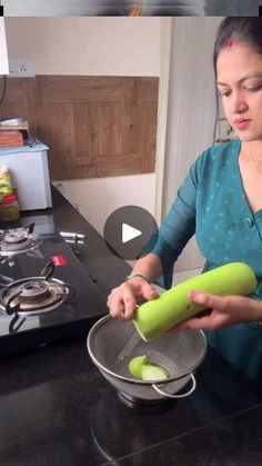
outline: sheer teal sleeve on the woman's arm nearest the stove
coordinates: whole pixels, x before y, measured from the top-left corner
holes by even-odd
[[[195,232],[198,165],[196,160],[191,166],[168,216],[159,229],[158,240],[150,250],[161,260],[164,288],[171,287],[174,262]]]

